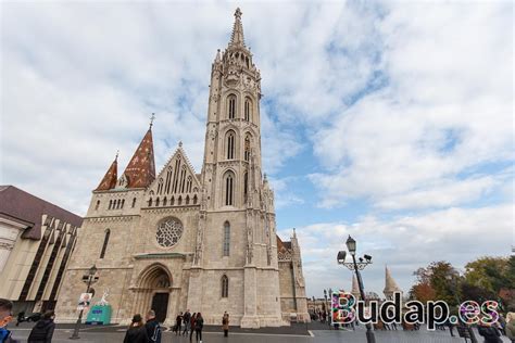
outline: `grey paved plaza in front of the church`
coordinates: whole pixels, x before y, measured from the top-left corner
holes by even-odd
[[[20,342],[26,342],[27,336],[30,332],[30,323],[22,323],[20,327],[10,328],[13,331],[13,336]],[[206,327],[203,332],[203,343],[366,343],[364,328],[357,328],[356,331],[335,331],[324,330],[325,328],[321,325],[310,325],[306,330],[305,326],[292,326],[291,328],[277,328],[277,329],[260,329],[260,330],[241,330],[234,328],[230,331],[228,338],[224,338],[219,327]],[[123,342],[125,335],[125,327],[111,326],[111,327],[85,327],[80,331],[79,342]],[[71,342],[68,339],[72,335],[73,326],[71,325],[58,325],[55,329],[53,340],[54,343]],[[282,332],[282,333],[281,333]],[[482,338],[476,332],[476,336],[479,342],[482,342]],[[177,336],[175,333],[169,331],[164,332],[163,343],[177,342],[188,343],[188,338]],[[193,342],[194,335],[193,335]],[[449,331],[435,331],[429,332],[427,330],[420,331],[376,331],[377,343],[459,343],[464,342],[463,339],[452,338]],[[510,342],[506,338],[503,338],[503,342]]]

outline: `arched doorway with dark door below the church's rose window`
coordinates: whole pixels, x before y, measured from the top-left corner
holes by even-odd
[[[139,303],[142,305],[141,314],[149,309],[155,312],[155,318],[160,322],[166,319],[168,310],[169,291],[172,288],[172,277],[161,264],[155,264],[145,269],[138,283]]]

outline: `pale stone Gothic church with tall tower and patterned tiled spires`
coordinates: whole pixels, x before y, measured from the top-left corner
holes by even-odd
[[[77,319],[83,276],[93,265],[93,302],[109,292],[112,322],[151,308],[168,325],[186,309],[208,325],[221,325],[227,312],[242,328],[310,320],[297,236],[277,236],[262,170],[261,75],[241,14],[212,64],[200,174],[181,143],[155,172],[152,124],[120,177],[114,160],[92,191],[59,293],[59,321]]]

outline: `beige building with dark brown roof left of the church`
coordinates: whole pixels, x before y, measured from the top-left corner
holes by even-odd
[[[0,186],[0,297],[17,314],[52,309],[83,218]]]

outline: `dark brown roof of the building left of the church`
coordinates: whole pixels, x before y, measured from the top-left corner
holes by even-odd
[[[42,215],[80,227],[83,218],[14,186],[0,186],[0,214],[27,224],[22,238],[40,240]]]

